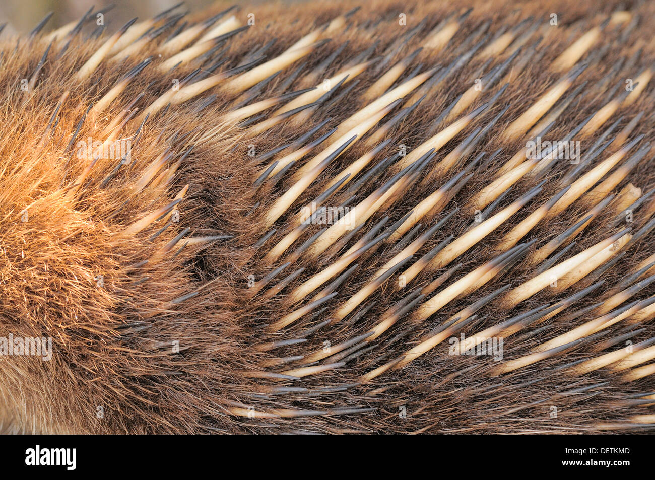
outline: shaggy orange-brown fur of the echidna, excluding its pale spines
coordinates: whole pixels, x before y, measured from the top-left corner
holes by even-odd
[[[594,26],[599,26],[617,9],[631,12],[631,18],[637,22],[636,26],[629,22],[618,25],[610,23],[595,46],[578,61],[578,65],[584,62],[589,62],[589,65],[559,102],[565,100],[576,86],[583,82],[586,84],[557,117],[545,136],[547,139],[563,139],[589,115],[612,98],[620,96],[626,78],[634,79],[643,69],[652,68],[655,58],[651,38],[653,6],[648,2],[635,1],[622,3],[619,8],[619,3],[613,1],[586,5],[569,0],[552,1],[548,5],[538,1],[485,3],[466,0],[434,5],[407,5],[387,0],[366,3],[362,9],[345,18],[343,27],[323,35],[322,38],[331,37],[331,41],[284,68],[261,90],[257,91],[257,86],[254,86],[254,96],[251,96],[253,90],[234,94],[221,89],[219,85],[187,102],[162,108],[149,116],[143,128],[140,128],[141,112],[168,91],[174,79],[182,81],[181,86],[186,86],[189,83],[183,83],[183,79],[195,69],[200,69],[200,75],[206,73],[207,77],[211,73],[247,64],[261,56],[253,52],[276,39],[265,51],[265,58],[260,63],[271,60],[303,35],[321,28],[352,7],[354,5],[347,1],[312,2],[293,9],[282,3],[256,5],[250,10],[244,7],[231,13],[245,24],[248,12],[255,12],[255,26],[228,39],[212,52],[210,58],[201,56],[168,73],[157,69],[166,60],[157,56],[157,48],[173,33],[175,26],[169,26],[138,54],[124,61],[112,62],[105,58],[90,77],[83,80],[75,79],[75,74],[107,41],[109,35],[106,33],[90,39],[89,35],[94,30],[86,26],[75,35],[57,39],[50,46],[47,60],[41,68],[37,68],[37,65],[48,49],[47,34],[39,33],[33,38],[2,39],[0,335],[6,337],[12,333],[14,337],[52,337],[53,359],[41,361],[30,356],[0,357],[1,429],[7,432],[111,434],[590,433],[650,430],[652,424],[635,421],[633,417],[653,413],[648,402],[635,400],[655,391],[652,375],[626,382],[608,368],[580,375],[556,368],[623,348],[627,340],[637,344],[652,338],[653,325],[647,321],[630,323],[629,319],[624,320],[569,350],[500,376],[494,374],[498,362],[491,357],[452,356],[448,352],[447,341],[402,369],[392,369],[371,382],[362,383],[362,375],[400,358],[462,308],[499,287],[507,284],[516,287],[535,276],[534,267],[528,267],[523,261],[526,257],[524,254],[485,286],[457,297],[429,318],[415,320],[411,316],[421,303],[500,253],[495,246],[502,236],[565,186],[561,184],[561,179],[575,168],[565,161],[553,164],[542,178],[546,179],[542,191],[523,209],[464,255],[447,267],[424,270],[400,291],[395,288],[398,273],[447,236],[452,234],[457,238],[472,225],[474,212],[467,208],[467,202],[489,185],[496,178],[498,168],[525,145],[523,138],[502,141],[503,132],[563,77],[563,73],[551,71],[549,67],[576,39]],[[328,118],[331,120],[311,139],[319,138],[331,128],[339,126],[369,103],[363,96],[371,84],[421,47],[426,35],[448,14],[461,14],[468,7],[474,8],[447,47],[440,52],[423,48],[392,88],[405,81],[415,67],[420,66],[418,73],[436,65],[447,67],[477,42],[483,41],[482,49],[502,29],[512,29],[533,16],[534,22],[540,22],[539,30],[534,31],[508,71],[512,72],[517,65],[524,65],[523,70],[509,81],[506,90],[493,105],[489,105],[438,151],[409,189],[372,215],[348,242],[337,244],[316,258],[309,257],[307,253],[298,258],[290,257],[320,228],[320,225],[310,225],[284,255],[272,264],[267,263],[264,260],[266,253],[290,231],[296,213],[319,196],[327,183],[350,162],[371,149],[366,140],[378,126],[333,160],[272,227],[267,227],[265,215],[274,201],[295,183],[293,174],[336,138],[332,136],[315,147],[279,181],[269,180],[257,186],[253,185],[253,177],[270,161],[262,161],[261,154],[294,141]],[[548,33],[551,12],[557,12],[559,26],[552,27],[556,31],[542,37]],[[406,26],[398,24],[399,13],[406,14]],[[169,14],[167,18],[173,15]],[[196,15],[191,16],[190,21],[193,24],[206,18],[207,14]],[[156,25],[159,27],[165,22],[166,18]],[[489,22],[489,26],[478,30],[484,22]],[[530,22],[525,24],[518,36],[531,25]],[[412,28],[416,28],[414,34],[408,35]],[[476,36],[470,37],[471,34]],[[489,37],[485,39],[484,35]],[[354,60],[376,42],[377,45],[366,58]],[[329,65],[322,64],[342,46],[343,49]],[[534,52],[530,50],[531,47]],[[373,175],[355,191],[348,191],[365,172],[397,153],[400,144],[406,145],[407,153],[411,153],[413,148],[451,123],[443,120],[435,124],[435,120],[476,78],[485,78],[483,76],[493,67],[506,60],[508,50],[491,58],[489,64],[477,58],[476,53],[440,83],[430,86],[428,81],[428,87],[424,90],[419,87],[405,96],[401,105],[384,117],[379,126],[392,119],[409,98],[414,98],[413,103],[426,94],[426,98],[384,136],[384,139],[390,139],[388,145],[360,174],[349,179],[343,189],[330,196],[325,204],[339,206],[347,201],[348,206],[356,206],[388,181],[398,172],[393,165]],[[89,105],[98,102],[132,67],[151,56],[152,63],[128,83],[102,114],[93,115],[91,111],[84,117]],[[242,107],[244,100],[244,104],[251,104],[309,88],[346,67],[378,56],[381,56],[380,60],[355,79],[349,79],[335,89],[324,103],[296,113],[263,133],[253,136],[248,132],[248,126],[223,122],[222,116],[236,106]],[[613,69],[620,59],[624,59],[624,62],[618,70]],[[220,60],[225,62],[210,73],[208,69]],[[28,91],[21,90],[21,79],[31,79],[35,71],[33,86]],[[293,81],[286,82],[296,74]],[[489,91],[481,92],[456,119],[489,102],[507,82],[506,75],[508,73],[504,73]],[[198,77],[190,83],[195,81],[198,81]],[[344,91],[346,93],[340,96]],[[655,102],[652,92],[651,81],[635,103],[620,107],[592,136],[583,139],[583,159],[585,149],[591,147],[612,123],[620,118],[618,126],[605,141],[614,138],[641,112],[643,117],[629,132],[624,144],[639,135],[645,137],[618,166],[624,164],[637,149],[652,141],[650,126]],[[214,94],[215,99],[205,105],[203,102]],[[62,98],[64,100],[59,105]],[[264,111],[261,120],[271,117],[272,112],[284,103]],[[459,159],[453,170],[447,175],[433,170],[436,162],[445,158],[476,128],[489,124],[507,105],[510,108],[506,113],[466,158]],[[560,103],[555,103],[553,109],[557,105]],[[75,138],[75,141],[89,137],[106,138],[111,133],[106,129],[126,109],[125,113],[133,116],[122,127],[115,128],[119,128],[117,138],[133,140],[132,163],[122,166],[103,184],[118,160],[99,158],[88,174],[84,174],[90,161],[78,158],[75,150],[69,149],[68,145],[71,138]],[[84,120],[75,135],[81,119]],[[253,124],[261,120],[255,120]],[[248,156],[250,145],[255,147],[255,157]],[[192,146],[193,149],[187,152]],[[500,148],[502,151],[485,164],[485,159]],[[615,145],[608,147],[580,175],[616,150]],[[284,154],[290,151],[293,149],[285,150]],[[284,315],[312,302],[317,293],[324,291],[354,263],[298,303],[289,300],[291,291],[335,262],[388,215],[388,221],[377,232],[383,233],[481,152],[486,152],[485,157],[471,170],[472,177],[455,198],[440,213],[430,212],[422,217],[418,231],[401,238],[402,246],[384,241],[367,251],[354,262],[358,266],[346,278],[338,285],[327,288],[325,293],[335,291],[335,297],[288,327],[274,333],[269,331],[270,325]],[[175,175],[168,181],[160,181],[159,185],[149,182],[135,193],[134,188],[141,175],[147,172],[152,162],[166,153],[172,155],[153,178],[157,179],[160,172],[172,168],[176,161],[183,158]],[[280,155],[272,158],[279,158]],[[641,188],[644,194],[648,193],[655,186],[653,168],[653,155],[647,153],[626,179],[612,189],[612,193],[618,194],[628,183]],[[603,179],[615,170],[612,169]],[[500,212],[542,179],[523,177],[493,208],[491,215]],[[179,209],[178,222],[159,220],[137,233],[126,232],[128,226],[145,215],[170,204],[185,185],[189,185],[188,192],[176,206]],[[352,195],[354,198],[350,198]],[[555,263],[618,231],[619,227],[610,226],[610,221],[618,213],[617,202],[615,199],[579,232],[574,239],[576,244]],[[536,240],[527,255],[574,225],[592,206],[584,204],[580,198],[565,212],[538,223],[521,239],[521,242]],[[308,333],[308,329],[332,318],[335,310],[367,285],[380,267],[456,207],[460,207],[460,210],[422,245],[413,259],[346,318]],[[24,221],[25,210],[28,215]],[[627,226],[633,227],[632,233],[635,233],[650,221],[653,213],[652,203],[646,201],[639,210],[635,210],[634,221]],[[485,219],[488,217],[485,215]],[[160,232],[166,225],[168,227]],[[187,228],[189,232],[170,248],[169,242]],[[257,246],[257,242],[272,229],[276,230],[265,243]],[[214,235],[232,237],[185,246],[189,238]],[[409,235],[413,236],[409,238]],[[567,244],[556,249],[550,258]],[[635,272],[636,266],[654,253],[652,247],[650,236],[646,234],[622,249],[624,255],[610,268],[603,270],[600,267],[587,278],[557,294],[548,288],[543,289],[514,308],[509,308],[501,295],[482,306],[476,312],[477,318],[462,322],[461,331],[450,336],[458,337],[460,333],[474,335],[537,306],[546,303],[555,305],[593,282],[604,280],[601,286],[562,313],[527,325],[525,329],[508,336],[505,339],[504,361],[519,358],[534,346],[597,318],[598,315],[589,312],[587,307],[616,293],[612,288]],[[279,272],[259,293],[252,293],[248,287],[249,276],[261,280],[289,258],[293,260],[291,265]],[[146,260],[148,263],[142,265]],[[426,294],[381,337],[370,345],[362,344],[364,350],[354,350],[359,351],[360,355],[346,357],[348,361],[345,365],[301,380],[262,377],[262,372],[282,373],[301,367],[302,359],[288,358],[309,356],[320,351],[326,341],[335,346],[367,333],[392,305],[417,287],[425,289],[458,263],[463,265],[443,285]],[[279,293],[265,293],[300,268],[303,270]],[[645,272],[639,280],[652,272],[652,269]],[[103,276],[102,287],[98,286],[98,275]],[[635,282],[637,280],[632,284]],[[653,293],[652,285],[641,289],[622,305],[647,299]],[[195,296],[187,298],[189,294]],[[581,314],[576,315],[575,312]],[[614,338],[618,339],[617,344],[612,344]],[[271,349],[260,348],[262,344],[291,339],[303,339],[303,342]],[[179,352],[173,350],[173,342],[179,342]],[[373,348],[367,348],[369,346]],[[339,353],[333,356],[339,356]],[[332,362],[329,357],[319,361],[321,364]],[[276,387],[290,389],[275,392],[273,389]],[[550,415],[553,406],[557,407],[557,418]],[[102,407],[102,418],[97,415],[98,407]],[[402,409],[399,410],[400,407]],[[406,416],[399,415],[400,411],[406,411]]]

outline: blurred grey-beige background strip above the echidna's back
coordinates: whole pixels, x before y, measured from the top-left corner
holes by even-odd
[[[7,33],[29,33],[48,12],[53,12],[44,31],[64,26],[78,20],[86,10],[94,11],[114,5],[105,14],[105,26],[115,31],[125,22],[138,16],[143,20],[179,3],[180,0],[0,0],[0,25],[7,23]],[[218,4],[234,5],[238,1],[228,0],[185,0],[188,10],[197,12],[202,7]]]

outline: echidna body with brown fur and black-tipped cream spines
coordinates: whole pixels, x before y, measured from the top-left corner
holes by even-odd
[[[1,430],[655,426],[654,3],[103,12],[0,41]]]

